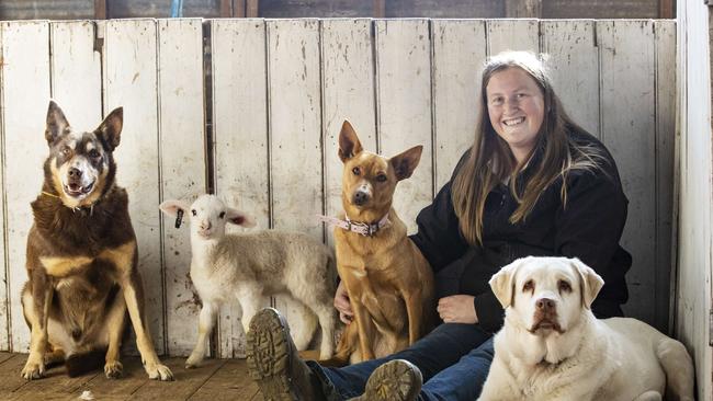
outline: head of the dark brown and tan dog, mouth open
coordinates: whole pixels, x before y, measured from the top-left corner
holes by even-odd
[[[123,110],[115,108],[93,131],[72,129],[61,108],[49,101],[45,139],[45,187],[67,207],[93,205],[114,184],[113,151],[122,133]]]

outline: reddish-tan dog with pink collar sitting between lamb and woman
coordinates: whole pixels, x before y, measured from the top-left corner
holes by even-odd
[[[364,151],[351,124],[342,125],[344,221],[336,222],[335,247],[354,320],[341,336],[335,364],[393,354],[432,326],[433,273],[392,207],[396,183],[411,176],[421,151],[417,146],[386,159]]]

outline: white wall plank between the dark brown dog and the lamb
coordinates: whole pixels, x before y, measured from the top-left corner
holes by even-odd
[[[138,241],[138,268],[144,279],[148,326],[156,352],[162,354],[165,275],[157,191],[160,187],[160,162],[156,31],[156,20],[112,20],[106,23],[104,113],[124,107],[122,144],[114,153],[118,164],[116,182],[128,192],[128,211]]]

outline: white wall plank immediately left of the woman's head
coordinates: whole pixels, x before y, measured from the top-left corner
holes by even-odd
[[[486,59],[485,22],[432,20],[435,191],[473,145]]]

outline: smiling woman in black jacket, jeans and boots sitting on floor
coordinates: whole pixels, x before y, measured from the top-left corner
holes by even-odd
[[[325,368],[302,362],[284,320],[264,310],[251,325],[248,363],[265,399],[477,398],[503,314],[488,280],[528,255],[579,257],[606,282],[595,314],[623,314],[631,256],[619,240],[627,200],[611,154],[567,116],[530,53],[488,60],[480,104],[473,146],[411,237],[435,272],[444,324],[389,357]],[[348,322],[341,286],[335,306]]]

